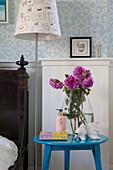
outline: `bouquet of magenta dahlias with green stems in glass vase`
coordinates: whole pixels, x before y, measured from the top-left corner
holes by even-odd
[[[76,121],[78,122],[78,127],[83,123],[87,124],[87,120],[82,113],[82,104],[86,100],[85,96],[90,94],[91,87],[94,84],[93,78],[91,76],[90,70],[86,70],[84,67],[78,66],[74,69],[73,75],[65,74],[64,82],[58,79],[50,79],[49,84],[55,89],[63,89],[66,93],[65,104],[66,107],[64,111],[65,114],[70,119],[72,132],[75,133]],[[75,126],[72,126],[72,120],[75,120]]]

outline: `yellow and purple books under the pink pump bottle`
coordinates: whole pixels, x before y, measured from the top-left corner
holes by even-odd
[[[40,140],[67,140],[67,131],[40,132]]]

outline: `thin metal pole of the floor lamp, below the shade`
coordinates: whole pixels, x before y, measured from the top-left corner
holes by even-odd
[[[38,33],[36,33],[35,44],[35,136],[37,135],[37,120],[38,120]],[[37,170],[37,143],[34,147],[34,170]]]

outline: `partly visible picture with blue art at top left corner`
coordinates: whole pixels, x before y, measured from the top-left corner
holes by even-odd
[[[0,0],[0,24],[8,23],[8,0]]]

